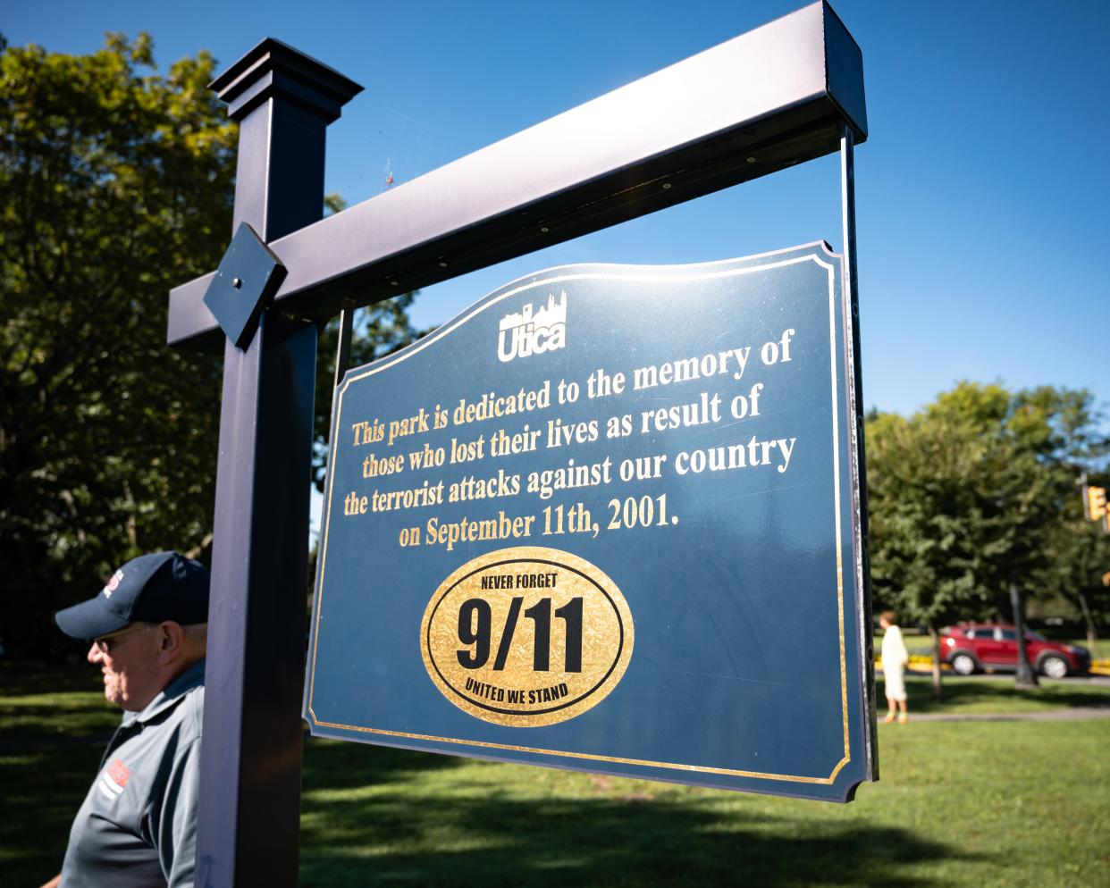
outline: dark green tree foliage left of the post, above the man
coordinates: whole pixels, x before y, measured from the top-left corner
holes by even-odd
[[[122,561],[208,538],[219,364],[165,346],[167,293],[231,228],[236,130],[208,53],[149,36],[0,54],[0,562],[7,642]]]

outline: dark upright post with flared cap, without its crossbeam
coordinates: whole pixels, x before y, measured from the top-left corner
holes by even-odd
[[[234,228],[323,213],[327,124],[357,84],[274,40],[212,83],[240,122]],[[316,326],[224,347],[196,836],[199,886],[296,885]]]

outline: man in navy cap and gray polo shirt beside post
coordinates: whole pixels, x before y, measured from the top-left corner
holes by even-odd
[[[193,885],[209,573],[176,552],[142,555],[94,598],[60,610],[91,639],[104,697],[123,709],[60,876],[43,888]]]

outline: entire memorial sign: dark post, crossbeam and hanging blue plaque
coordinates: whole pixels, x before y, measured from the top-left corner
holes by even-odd
[[[167,324],[224,361],[199,878],[296,884],[302,699],[317,734],[435,751],[841,800],[876,779],[868,127],[828,3],[326,220],[325,131],[362,87],[268,38],[212,88],[236,234]],[[564,269],[346,376],[302,698],[317,325],[834,151],[841,258]]]

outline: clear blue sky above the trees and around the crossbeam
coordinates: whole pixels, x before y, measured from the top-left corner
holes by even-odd
[[[161,65],[209,49],[221,70],[284,40],[366,88],[329,131],[326,188],[356,203],[799,6],[37,0],[0,31],[80,53],[147,30]],[[1110,3],[833,6],[864,51],[870,124],[856,154],[866,404],[909,413],[970,379],[1086,387],[1106,406]],[[840,249],[838,186],[837,159],[814,161],[430,287],[414,320],[571,262]]]

